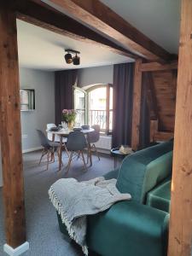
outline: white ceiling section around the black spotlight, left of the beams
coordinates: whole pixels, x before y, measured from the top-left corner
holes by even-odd
[[[17,20],[17,31],[20,67],[54,71],[133,61],[109,49],[82,43],[21,20]],[[66,64],[64,49],[79,50],[81,64]]]

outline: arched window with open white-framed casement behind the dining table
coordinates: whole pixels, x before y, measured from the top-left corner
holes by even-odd
[[[88,90],[75,88],[74,108],[78,110],[76,122],[80,125],[100,125],[105,134],[112,132],[113,87],[112,84],[91,86]]]

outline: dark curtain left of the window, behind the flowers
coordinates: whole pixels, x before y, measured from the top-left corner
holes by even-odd
[[[77,84],[77,69],[55,72],[55,124],[61,124],[64,108],[73,108],[73,85]]]

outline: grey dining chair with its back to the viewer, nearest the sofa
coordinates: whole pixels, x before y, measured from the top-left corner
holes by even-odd
[[[71,151],[69,160],[68,160],[68,165],[67,165],[67,172],[69,171],[69,168],[70,168],[72,160],[73,160],[73,154],[75,152],[79,154],[79,157],[82,157],[82,160],[84,162],[84,168],[85,168],[85,170],[87,170],[87,166],[86,166],[85,160],[84,160],[84,152],[83,152],[84,148],[87,147],[87,142],[86,142],[83,132],[71,131],[67,138],[66,146],[67,146],[67,150]]]

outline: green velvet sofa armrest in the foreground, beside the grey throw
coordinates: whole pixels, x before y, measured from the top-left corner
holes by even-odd
[[[165,256],[167,212],[121,201],[88,218],[87,243],[102,256]]]

